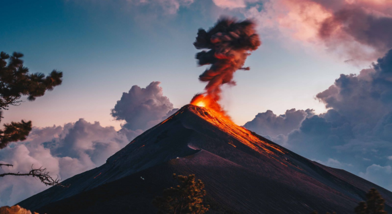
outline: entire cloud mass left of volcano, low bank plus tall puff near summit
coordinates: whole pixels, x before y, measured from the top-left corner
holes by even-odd
[[[146,88],[132,86],[112,110],[116,119],[125,120],[120,131],[84,119],[64,126],[34,127],[26,140],[0,150],[0,162],[14,165],[1,168],[0,173],[27,172],[32,165],[44,166],[51,176],[65,180],[104,164],[134,137],[176,110],[163,96],[159,82],[152,82]],[[48,188],[31,177],[5,176],[1,180],[0,207],[13,205]]]

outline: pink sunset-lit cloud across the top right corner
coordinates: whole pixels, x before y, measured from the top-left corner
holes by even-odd
[[[373,61],[392,48],[392,2],[372,0],[214,0],[278,33],[349,59]]]

